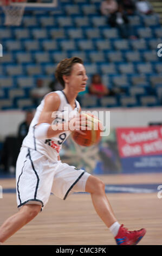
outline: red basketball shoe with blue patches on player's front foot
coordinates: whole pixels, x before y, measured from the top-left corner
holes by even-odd
[[[117,245],[137,245],[146,234],[146,229],[128,231],[123,225],[120,226],[118,235],[115,236]]]

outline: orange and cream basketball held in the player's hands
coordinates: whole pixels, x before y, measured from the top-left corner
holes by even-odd
[[[82,135],[77,131],[72,132],[73,140],[77,144],[84,147],[89,147],[99,143],[101,139],[101,121],[97,117],[89,113],[83,113],[81,114],[81,117],[85,117],[86,120],[88,120],[88,122],[90,123],[90,130],[88,130],[88,127],[86,130],[83,130],[85,135]]]

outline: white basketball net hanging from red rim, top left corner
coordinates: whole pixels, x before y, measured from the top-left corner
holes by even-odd
[[[6,26],[19,26],[27,0],[0,0]]]

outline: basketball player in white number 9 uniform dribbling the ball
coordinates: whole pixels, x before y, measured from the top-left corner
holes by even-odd
[[[68,110],[74,130],[83,130],[84,125],[80,124],[78,117],[81,108],[75,99],[77,93],[85,90],[88,77],[82,60],[77,57],[62,60],[55,75],[64,90],[47,94],[36,109],[16,164],[19,211],[2,224],[0,242],[3,243],[33,220],[47,204],[51,191],[64,200],[71,192],[86,191],[91,194],[97,214],[112,232],[116,243],[135,245],[146,230],[128,231],[120,225],[106,197],[103,182],[84,170],[60,161],[61,145],[71,132],[69,120],[63,114]],[[56,111],[60,111],[62,116]]]

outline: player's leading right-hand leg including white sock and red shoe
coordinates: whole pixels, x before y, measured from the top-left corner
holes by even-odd
[[[118,245],[137,245],[145,235],[146,230],[142,228],[140,230],[128,231],[127,228],[124,228],[123,225],[116,221],[111,205],[106,197],[103,182],[90,175],[86,182],[85,191],[91,194],[97,214],[114,235],[116,243]]]

